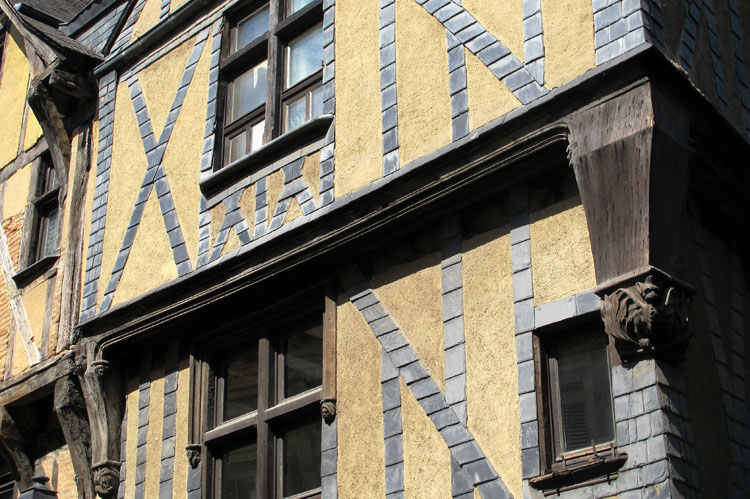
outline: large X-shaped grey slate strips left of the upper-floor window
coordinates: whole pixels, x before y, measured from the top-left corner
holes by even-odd
[[[159,136],[158,142],[155,140],[155,135],[151,126],[151,118],[149,116],[148,108],[146,107],[146,100],[143,97],[143,90],[141,89],[138,76],[134,75],[130,81],[128,81],[130,98],[133,101],[133,109],[138,118],[138,126],[141,131],[141,140],[148,159],[148,166],[143,181],[141,182],[141,189],[138,193],[138,198],[136,199],[135,206],[133,207],[130,216],[128,228],[125,231],[125,237],[120,246],[115,265],[112,268],[109,283],[104,291],[100,313],[106,312],[112,305],[112,299],[115,290],[117,289],[117,284],[122,277],[125,264],[127,263],[130,250],[133,246],[133,240],[135,239],[141,218],[143,217],[143,210],[146,207],[146,202],[151,196],[151,191],[154,189],[154,186],[156,186],[159,207],[161,208],[164,225],[166,226],[167,235],[169,236],[169,243],[172,247],[174,262],[177,266],[177,274],[182,277],[192,271],[190,258],[185,245],[185,239],[182,235],[180,222],[177,218],[177,210],[175,209],[174,200],[172,199],[172,191],[169,188],[169,181],[167,180],[162,161],[164,159],[167,145],[169,144],[169,139],[172,136],[172,130],[174,129],[174,126],[177,123],[177,118],[180,115],[182,103],[185,101],[185,96],[187,95],[188,88],[193,80],[195,69],[198,66],[198,61],[203,53],[203,47],[208,38],[208,33],[209,29],[205,29],[196,37],[193,52],[190,54],[190,59],[188,59],[187,66],[182,74],[180,86],[172,101],[169,115],[164,123],[164,129]]]

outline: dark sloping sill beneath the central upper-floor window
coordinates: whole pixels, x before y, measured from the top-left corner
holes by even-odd
[[[264,164],[270,163],[274,159],[289,154],[295,149],[299,149],[311,141],[322,137],[328,131],[331,122],[333,122],[333,115],[324,114],[308,121],[291,132],[273,139],[256,151],[205,177],[200,182],[201,192],[203,192],[204,196],[210,197],[232,182],[259,170]]]

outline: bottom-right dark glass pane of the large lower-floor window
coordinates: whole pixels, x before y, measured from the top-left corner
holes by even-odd
[[[320,487],[320,421],[313,419],[281,438],[284,497]]]

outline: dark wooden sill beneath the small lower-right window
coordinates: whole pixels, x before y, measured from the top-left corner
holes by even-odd
[[[582,485],[598,483],[611,479],[610,475],[617,472],[627,459],[628,455],[624,452],[608,456],[591,456],[587,461],[566,470],[553,471],[547,475],[532,478],[529,484],[538,490],[557,493]]]

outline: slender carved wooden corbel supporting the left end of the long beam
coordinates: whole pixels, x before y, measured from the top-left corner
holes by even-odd
[[[117,494],[120,477],[120,375],[102,358],[99,346],[81,346],[79,380],[91,425],[91,471],[96,493],[104,499]]]

